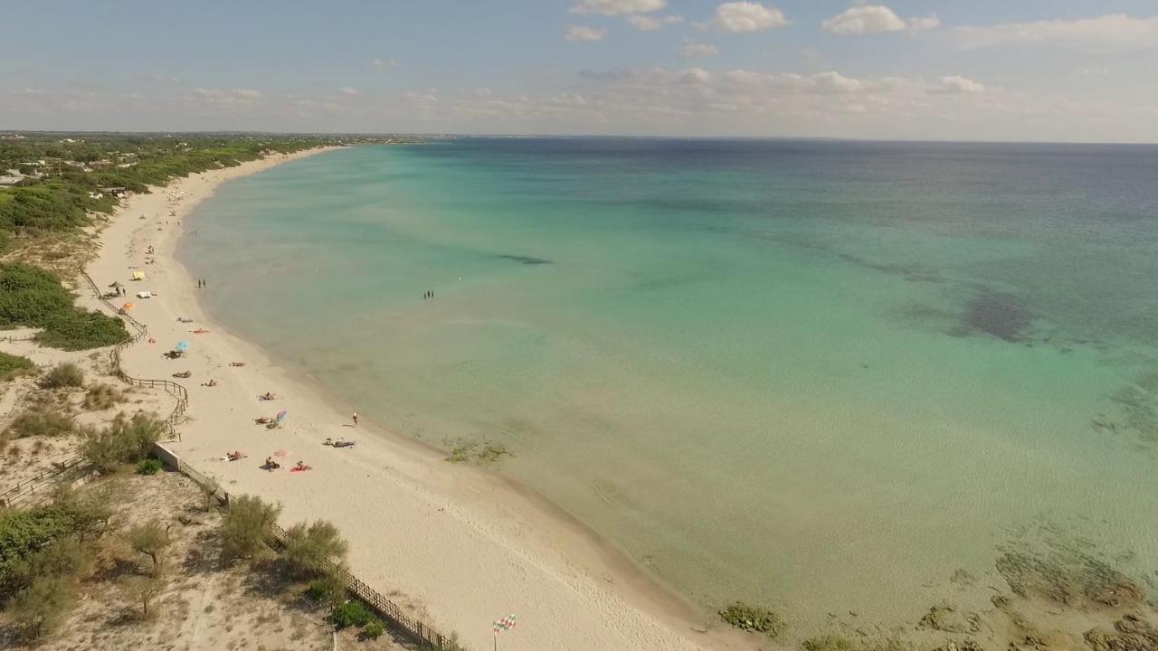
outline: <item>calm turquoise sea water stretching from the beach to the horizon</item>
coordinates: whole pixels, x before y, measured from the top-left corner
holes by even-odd
[[[1158,148],[459,139],[193,224],[226,326],[401,433],[505,445],[705,607],[977,605],[1041,525],[1158,577]]]

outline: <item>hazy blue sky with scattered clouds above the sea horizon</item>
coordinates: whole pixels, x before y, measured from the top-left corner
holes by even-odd
[[[0,129],[1158,141],[1155,0],[29,0],[0,43]]]

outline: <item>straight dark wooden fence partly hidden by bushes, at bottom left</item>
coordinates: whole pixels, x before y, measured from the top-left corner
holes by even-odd
[[[222,506],[226,509],[229,507],[229,492],[221,488],[221,484],[197,471],[164,446],[156,445],[155,447],[157,458],[164,460],[170,466],[174,466],[175,462],[174,469],[193,480],[193,482],[201,487],[201,489],[212,492]],[[286,531],[278,525],[273,525],[270,531],[270,537],[266,541],[269,546],[273,549],[281,549],[285,547],[285,541]],[[418,644],[430,645],[433,649],[440,649],[444,651],[455,651],[460,649],[456,643],[452,641],[452,638],[440,634],[430,624],[406,615],[397,604],[390,601],[386,597],[382,597],[381,593],[366,585],[365,581],[351,575],[344,568],[329,564],[327,570],[332,572],[334,576],[338,578],[350,594],[365,602],[388,622],[393,623],[398,629],[402,629],[408,637]]]

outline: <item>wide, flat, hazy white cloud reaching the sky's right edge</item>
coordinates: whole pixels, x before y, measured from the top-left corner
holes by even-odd
[[[1158,49],[1158,17],[1135,19],[1111,14],[1097,19],[1051,20],[992,25],[966,25],[953,30],[966,50],[998,45],[1078,45],[1102,50]]]

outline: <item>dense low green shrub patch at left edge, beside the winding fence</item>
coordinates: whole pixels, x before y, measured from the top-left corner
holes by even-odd
[[[74,298],[50,271],[0,264],[0,328],[41,328],[36,341],[61,350],[102,348],[129,338],[119,319],[80,309],[73,306]]]

